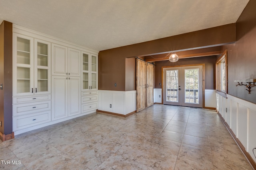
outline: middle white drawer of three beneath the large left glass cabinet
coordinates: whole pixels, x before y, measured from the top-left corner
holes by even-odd
[[[13,105],[13,116],[24,115],[28,113],[34,113],[38,111],[45,111],[51,109],[51,101],[33,102],[27,104]]]

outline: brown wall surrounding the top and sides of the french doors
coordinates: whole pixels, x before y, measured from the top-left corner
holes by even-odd
[[[215,62],[216,56],[180,59],[175,63],[171,63],[170,61],[158,61],[156,62],[156,88],[162,88],[159,85],[159,83],[162,82],[162,66],[205,64],[205,89],[215,89]]]

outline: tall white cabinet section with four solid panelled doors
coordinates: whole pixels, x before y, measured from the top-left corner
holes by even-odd
[[[52,120],[81,113],[81,52],[52,44]]]

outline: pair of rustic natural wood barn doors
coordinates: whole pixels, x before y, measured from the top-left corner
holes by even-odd
[[[154,104],[154,65],[136,59],[136,111]]]

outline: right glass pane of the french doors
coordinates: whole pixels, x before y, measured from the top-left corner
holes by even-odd
[[[185,103],[199,104],[199,69],[185,69]]]

